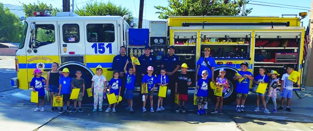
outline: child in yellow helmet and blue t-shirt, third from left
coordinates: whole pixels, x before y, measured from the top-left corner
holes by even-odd
[[[59,93],[58,95],[62,94],[63,95],[63,104],[62,107],[59,111],[59,113],[63,113],[63,106],[64,106],[64,102],[67,102],[67,112],[71,112],[72,110],[69,109],[69,97],[70,97],[70,93],[71,93],[71,81],[72,79],[68,77],[69,75],[69,70],[68,68],[64,68],[63,69],[63,77],[60,78],[59,80]]]

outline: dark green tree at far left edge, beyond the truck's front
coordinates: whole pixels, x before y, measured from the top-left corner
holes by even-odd
[[[9,8],[0,3],[0,38],[1,41],[18,43],[22,34],[22,22]]]

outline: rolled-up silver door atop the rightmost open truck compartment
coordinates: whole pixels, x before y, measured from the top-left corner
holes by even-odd
[[[301,32],[255,32],[255,38],[301,38]]]

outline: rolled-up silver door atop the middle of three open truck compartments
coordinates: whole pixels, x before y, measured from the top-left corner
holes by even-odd
[[[201,38],[251,38],[251,32],[201,32]]]

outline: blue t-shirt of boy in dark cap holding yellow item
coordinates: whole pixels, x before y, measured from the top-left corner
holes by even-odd
[[[239,73],[242,77],[244,77],[245,74],[250,75],[250,76],[253,76],[253,74],[252,74],[251,72],[249,72],[249,71],[244,72],[244,71],[241,71],[241,70],[240,70],[240,71],[238,71],[238,73]],[[250,80],[249,80],[248,77],[245,76],[245,77],[244,77],[244,80],[241,81],[241,83],[239,83],[238,80],[237,80],[236,92],[237,92],[237,93],[244,93],[244,94],[247,94],[247,93],[249,92],[249,86],[250,86]]]

